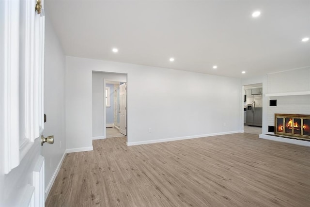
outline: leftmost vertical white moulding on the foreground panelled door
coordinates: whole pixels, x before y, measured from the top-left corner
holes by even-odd
[[[3,108],[1,116],[3,123],[3,150],[4,173],[8,174],[19,165],[19,0],[5,0],[1,15],[1,29],[4,29],[3,37],[3,77],[1,96],[3,96]],[[3,38],[3,39],[2,39]],[[2,61],[1,61],[2,62]],[[2,63],[1,63],[2,64]]]

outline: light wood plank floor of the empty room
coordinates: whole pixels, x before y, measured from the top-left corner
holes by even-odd
[[[309,207],[310,147],[248,133],[69,153],[47,207]]]

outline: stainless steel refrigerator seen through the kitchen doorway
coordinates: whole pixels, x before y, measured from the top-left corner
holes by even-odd
[[[247,96],[247,125],[262,127],[263,96]]]

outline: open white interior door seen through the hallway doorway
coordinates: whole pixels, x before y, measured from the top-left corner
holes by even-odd
[[[120,132],[127,135],[126,83],[120,85]]]

